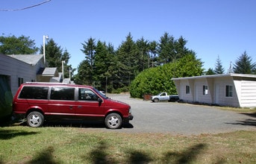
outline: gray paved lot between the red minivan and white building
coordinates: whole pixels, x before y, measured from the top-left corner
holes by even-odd
[[[232,111],[193,104],[143,101],[130,95],[108,95],[131,105],[134,120],[121,132],[173,134],[222,133],[256,130],[256,118]]]

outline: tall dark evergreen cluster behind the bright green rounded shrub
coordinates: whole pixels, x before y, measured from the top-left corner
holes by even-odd
[[[159,42],[143,37],[134,41],[129,33],[115,50],[110,43],[90,37],[82,43],[85,56],[78,66],[75,83],[90,84],[107,92],[128,92],[131,81],[140,72],[175,62],[187,54],[196,56],[186,43],[183,37],[175,39],[168,33]]]

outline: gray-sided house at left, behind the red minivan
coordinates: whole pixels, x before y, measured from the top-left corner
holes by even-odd
[[[62,82],[57,68],[44,65],[43,54],[0,54],[1,86],[10,86],[15,95],[19,85],[25,82]]]

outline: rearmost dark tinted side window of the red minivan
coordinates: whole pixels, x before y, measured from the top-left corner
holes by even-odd
[[[19,98],[47,100],[48,91],[48,86],[23,86]]]

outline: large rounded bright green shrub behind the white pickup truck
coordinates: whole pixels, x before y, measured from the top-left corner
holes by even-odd
[[[172,78],[202,75],[202,62],[194,54],[187,54],[175,63],[146,69],[131,82],[130,94],[132,98],[143,98],[144,94],[157,95],[159,92],[177,94]]]

